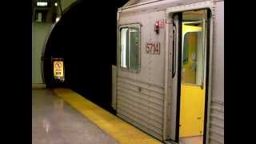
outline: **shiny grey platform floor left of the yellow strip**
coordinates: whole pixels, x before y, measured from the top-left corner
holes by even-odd
[[[33,144],[118,144],[50,90],[32,90]]]

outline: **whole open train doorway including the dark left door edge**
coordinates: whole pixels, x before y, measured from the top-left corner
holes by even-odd
[[[174,139],[182,144],[204,144],[206,141],[208,19],[208,10],[173,15],[172,92],[177,97]]]

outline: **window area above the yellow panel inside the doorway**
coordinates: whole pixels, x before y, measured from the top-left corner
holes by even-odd
[[[204,82],[206,46],[206,13],[186,12],[182,22],[182,83],[202,85]]]

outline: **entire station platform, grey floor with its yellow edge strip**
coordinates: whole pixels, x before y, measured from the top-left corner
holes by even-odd
[[[160,144],[69,89],[32,90],[32,143]]]

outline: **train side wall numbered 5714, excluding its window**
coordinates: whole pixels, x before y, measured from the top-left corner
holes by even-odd
[[[156,34],[154,24],[165,18],[163,10],[120,14],[118,25],[141,25],[141,67],[137,73],[122,70],[118,53],[117,115],[159,139],[163,131],[165,26]]]

